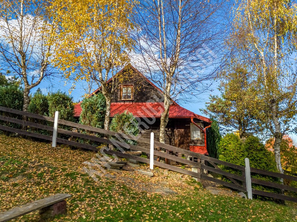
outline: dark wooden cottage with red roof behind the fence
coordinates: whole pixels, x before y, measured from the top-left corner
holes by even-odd
[[[127,69],[129,70],[127,71]],[[118,75],[126,75],[127,78],[121,77],[121,83],[117,84],[118,86],[113,92],[110,117],[127,110],[138,120],[141,136],[149,139],[151,132],[158,136],[160,117],[164,111],[162,91],[131,65],[119,71],[116,76]],[[111,84],[115,79],[110,79],[108,83]],[[90,96],[99,91],[100,89],[95,90]],[[75,117],[80,116],[80,103],[75,105],[74,112]],[[209,118],[195,114],[172,101],[169,121],[166,126],[165,143],[208,155],[206,128],[210,126]],[[148,146],[148,144],[140,143],[138,145]]]

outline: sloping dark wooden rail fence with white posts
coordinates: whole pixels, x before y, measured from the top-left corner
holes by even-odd
[[[204,180],[212,181],[217,184],[221,184],[221,185],[230,187],[232,189],[247,192],[249,199],[252,199],[252,194],[255,194],[255,195],[275,198],[275,199],[279,199],[279,200],[287,200],[287,201],[297,202],[297,198],[294,197],[294,196],[297,196],[297,188],[296,187],[284,185],[281,183],[275,183],[275,182],[271,182],[271,181],[264,181],[264,180],[259,179],[260,178],[259,175],[275,177],[275,178],[278,178],[278,180],[279,180],[279,178],[282,178],[282,179],[289,180],[289,181],[297,181],[297,177],[286,175],[286,174],[281,174],[281,173],[275,173],[275,172],[271,172],[271,171],[267,171],[267,170],[250,168],[249,160],[247,158],[245,160],[245,162],[246,162],[245,167],[240,166],[240,165],[235,165],[235,164],[228,163],[225,161],[217,160],[212,157],[201,155],[199,153],[191,152],[189,150],[181,149],[181,148],[174,147],[174,146],[171,146],[168,144],[160,143],[158,141],[154,141],[153,133],[151,134],[151,139],[145,139],[145,138],[142,138],[141,135],[140,136],[130,136],[130,135],[126,135],[123,133],[117,133],[117,132],[108,131],[108,130],[104,130],[104,129],[100,129],[100,128],[94,128],[91,126],[82,125],[79,123],[73,123],[73,122],[69,122],[66,120],[61,120],[58,118],[59,112],[56,112],[55,118],[51,118],[51,117],[47,117],[47,116],[36,115],[33,113],[29,113],[29,112],[23,112],[20,110],[13,110],[13,109],[6,108],[6,107],[0,107],[0,111],[3,111],[4,113],[7,113],[7,114],[16,114],[16,116],[17,115],[26,116],[29,118],[46,120],[49,122],[48,125],[42,125],[42,124],[35,123],[35,122],[30,122],[30,121],[20,120],[18,118],[11,118],[8,116],[0,115],[0,122],[1,122],[0,130],[2,130],[2,131],[9,131],[12,133],[18,133],[18,134],[22,134],[22,135],[26,135],[26,136],[31,136],[34,138],[49,140],[49,141],[52,141],[53,146],[56,146],[56,143],[58,142],[61,144],[67,144],[67,145],[71,145],[74,147],[81,147],[84,149],[98,151],[98,152],[101,152],[102,154],[116,155],[117,157],[123,157],[123,158],[127,158],[127,159],[137,160],[142,163],[148,163],[148,164],[150,164],[151,169],[153,169],[154,166],[158,166],[161,168],[173,170],[178,173],[183,173],[183,174],[192,176],[194,178],[197,178],[197,180],[204,179]],[[31,131],[24,130],[24,129],[12,128],[10,126],[5,126],[5,125],[8,125],[8,123],[15,123],[15,124],[19,124],[22,126],[28,126],[28,127],[32,127],[32,128],[38,128],[38,129],[50,131],[50,132],[52,132],[51,135],[53,135],[53,136],[43,135],[40,133],[35,133],[35,132],[31,132]],[[61,127],[61,125],[71,127],[72,131],[59,128],[59,126]],[[91,131],[94,133],[99,133],[102,135],[109,135],[113,139],[106,139],[106,138],[101,138],[98,136],[91,136],[91,135],[88,135],[85,133],[79,133],[76,130],[77,128],[86,130],[86,131]],[[117,147],[117,150],[111,150],[107,147],[103,147],[99,150],[99,149],[97,149],[96,146],[91,145],[91,144],[86,144],[86,143],[82,143],[82,142],[77,142],[77,141],[72,141],[69,139],[67,140],[67,139],[62,139],[62,138],[57,137],[61,134],[72,136],[75,138],[85,139],[88,141],[95,141],[98,143],[110,144],[110,145]],[[143,142],[146,144],[150,144],[150,149],[140,147],[137,145],[127,144],[125,142],[127,140],[128,141],[139,141],[139,142]],[[141,151],[141,152],[147,153],[150,155],[150,159],[129,154],[129,153],[125,152],[123,148],[126,150],[130,149],[133,151]],[[190,158],[185,159],[182,157],[171,155],[168,152],[160,151],[162,149],[184,154],[188,157],[192,157],[192,160],[190,160]],[[176,161],[177,163],[189,165],[192,167],[192,171],[180,168],[178,166],[173,166],[173,165],[169,165],[167,163],[162,163],[162,162],[156,161],[156,160],[154,160],[154,156],[163,157],[168,160]],[[197,161],[194,161],[196,159],[197,159]],[[202,164],[202,163],[207,163],[207,162],[210,165],[212,165],[212,167],[208,166],[208,164]],[[236,170],[237,172],[241,172],[241,175],[226,172],[221,169],[222,166],[232,168],[232,169]],[[210,177],[206,173],[203,173],[204,170],[211,171],[211,172],[217,173],[219,175],[222,175],[225,178],[225,180],[220,180],[218,178]],[[251,174],[252,174],[252,176],[251,176]],[[262,191],[259,189],[252,189],[252,184],[275,188],[275,189],[279,190],[279,193],[267,192],[267,191]],[[284,191],[286,191],[286,192],[284,192]],[[283,194],[283,193],[285,193],[285,194]],[[290,195],[290,194],[292,194],[292,195]]]

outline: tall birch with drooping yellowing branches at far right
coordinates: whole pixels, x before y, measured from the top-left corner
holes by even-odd
[[[277,169],[283,173],[280,144],[296,116],[297,7],[288,0],[243,0],[233,12],[227,43],[236,52],[231,62],[249,65],[250,78],[259,84]]]

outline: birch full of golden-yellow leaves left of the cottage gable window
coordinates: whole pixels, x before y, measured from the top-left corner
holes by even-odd
[[[60,21],[55,64],[67,79],[95,81],[106,99],[104,129],[108,130],[116,70],[129,62],[133,48],[132,1],[54,0],[53,17]]]

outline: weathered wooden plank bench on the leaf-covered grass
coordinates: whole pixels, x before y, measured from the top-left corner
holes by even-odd
[[[70,194],[55,194],[36,200],[25,205],[15,207],[0,213],[0,222],[10,221],[12,219],[23,216],[35,210],[40,210],[40,214],[44,218],[53,218],[55,215],[63,214],[66,211],[65,199],[71,197]]]

